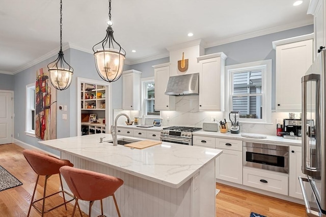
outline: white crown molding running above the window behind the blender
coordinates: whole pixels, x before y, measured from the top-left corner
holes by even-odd
[[[238,36],[234,36],[234,37],[228,37],[228,38],[218,40],[218,41],[215,41],[212,43],[206,43],[204,48],[214,47],[214,46],[218,46],[218,45],[222,45],[222,44],[228,44],[231,42],[236,42],[236,41],[246,40],[246,39],[255,38],[255,37],[268,35],[268,34],[272,34],[272,33],[282,32],[282,31],[299,28],[299,27],[302,27],[305,25],[310,25],[310,24],[313,24],[313,18],[311,18],[311,20],[305,20],[305,21],[295,22],[295,23],[291,23],[291,24],[278,25],[276,27],[272,27],[272,28],[268,28],[268,29],[259,30],[259,31],[255,31],[255,32],[247,33],[247,34],[242,34],[242,35],[238,35]]]

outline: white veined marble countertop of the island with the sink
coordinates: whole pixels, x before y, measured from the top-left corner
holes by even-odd
[[[39,141],[39,144],[173,188],[180,187],[222,153],[219,149],[166,142],[144,149],[130,149],[100,143],[100,137],[112,140],[111,134],[98,133]],[[119,138],[123,136],[118,135]]]

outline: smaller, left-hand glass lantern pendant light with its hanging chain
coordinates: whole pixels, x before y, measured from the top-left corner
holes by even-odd
[[[65,61],[62,51],[62,0],[60,0],[60,51],[58,58],[49,63],[50,82],[58,90],[66,90],[72,80],[73,68]]]

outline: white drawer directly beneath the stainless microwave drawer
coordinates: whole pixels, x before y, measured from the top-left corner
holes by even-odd
[[[243,185],[288,195],[288,176],[243,168]]]

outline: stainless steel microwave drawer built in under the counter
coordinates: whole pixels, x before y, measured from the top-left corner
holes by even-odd
[[[289,173],[289,147],[243,142],[243,166]]]

